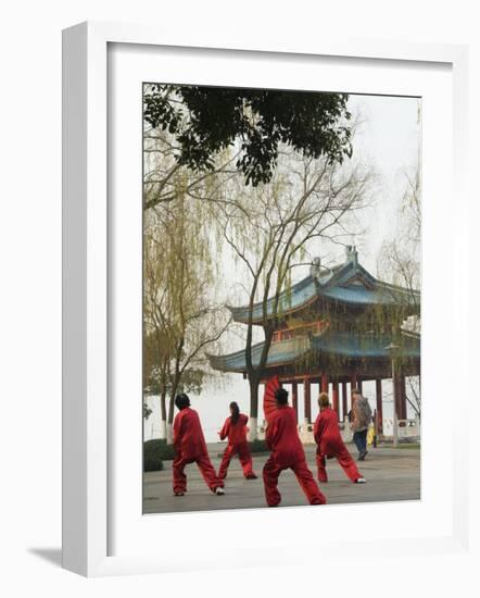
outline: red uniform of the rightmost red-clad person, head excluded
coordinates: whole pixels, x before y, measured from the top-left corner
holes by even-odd
[[[362,474],[356,469],[355,461],[342,440],[337,412],[333,409],[326,407],[317,415],[314,425],[314,437],[318,445],[317,469],[319,482],[328,482],[325,459],[331,457],[337,458],[349,479],[356,482],[362,477]]]

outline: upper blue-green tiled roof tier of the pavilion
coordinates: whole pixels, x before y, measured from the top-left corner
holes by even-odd
[[[316,300],[327,300],[352,307],[404,307],[407,313],[418,313],[420,292],[378,281],[357,260],[354,248],[349,248],[344,263],[330,270],[312,266],[311,274],[283,291],[279,299],[278,315],[287,315],[307,308]],[[236,322],[248,323],[249,307],[229,310]],[[267,301],[267,316],[274,313],[274,299]],[[253,306],[253,322],[263,322],[262,302]]]

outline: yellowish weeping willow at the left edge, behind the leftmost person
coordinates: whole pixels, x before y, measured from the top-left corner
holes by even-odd
[[[144,99],[150,85],[144,86]],[[144,103],[144,115],[147,103]],[[180,145],[165,127],[143,127],[143,389],[160,397],[161,437],[169,439],[174,398],[200,394],[205,350],[228,325],[217,300],[219,246],[210,201],[237,175],[235,154],[193,172],[177,160]]]

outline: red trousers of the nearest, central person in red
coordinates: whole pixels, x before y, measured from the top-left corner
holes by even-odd
[[[265,498],[268,507],[276,507],[281,501],[281,495],[278,491],[278,477],[285,470],[292,470],[311,504],[325,504],[327,499],[318,488],[312,472],[310,471],[305,459],[299,459],[290,465],[278,464],[273,454],[268,458],[263,469],[263,482],[265,486]]]

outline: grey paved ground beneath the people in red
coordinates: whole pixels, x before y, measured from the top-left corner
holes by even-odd
[[[216,470],[219,465],[217,454],[225,445],[209,445],[210,456]],[[307,446],[306,457],[316,478],[315,447]],[[349,445],[352,454],[356,454],[353,445]],[[188,465],[188,493],[174,497],[172,490],[172,461],[165,461],[162,472],[144,474],[143,512],[167,513],[186,511],[213,511],[217,509],[244,509],[265,507],[262,481],[262,468],[267,454],[253,456],[253,464],[258,479],[247,481],[241,473],[240,463],[235,458],[225,481],[225,496],[215,496],[205,486],[195,464]],[[329,503],[378,502],[387,500],[417,500],[420,498],[420,449],[379,447],[369,449],[369,453],[359,471],[367,484],[352,484],[343,474],[336,459],[327,461],[328,484],[321,484],[321,491]],[[288,470],[280,476],[279,490],[282,507],[306,504],[294,474]]]

